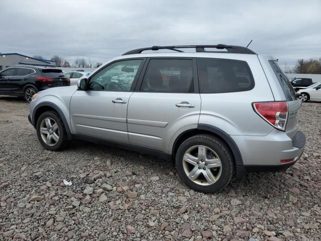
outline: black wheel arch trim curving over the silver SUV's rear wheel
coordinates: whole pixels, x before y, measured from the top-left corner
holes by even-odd
[[[226,132],[211,125],[199,124],[197,129],[188,130],[180,134],[174,142],[173,149],[172,149],[172,156],[173,157],[176,156],[177,150],[185,140],[187,140],[192,136],[200,135],[200,134],[212,135],[221,139],[223,142],[225,142],[233,155],[233,164],[236,168],[237,176],[239,178],[244,176],[243,159],[236,143]]]

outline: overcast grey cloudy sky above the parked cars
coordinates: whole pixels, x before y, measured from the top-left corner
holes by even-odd
[[[246,46],[284,66],[321,57],[321,1],[0,2],[0,52],[107,62],[154,45]]]

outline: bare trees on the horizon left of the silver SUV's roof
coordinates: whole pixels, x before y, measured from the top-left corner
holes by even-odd
[[[36,59],[44,59],[41,55],[34,55],[33,57]],[[91,59],[86,60],[85,58],[77,58],[73,64],[70,64],[67,60],[58,55],[52,56],[50,60],[55,61],[57,67],[98,68],[102,65],[100,62],[94,63]]]

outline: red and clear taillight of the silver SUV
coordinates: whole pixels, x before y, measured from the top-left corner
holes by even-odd
[[[278,130],[285,130],[288,115],[286,101],[257,102],[253,103],[253,107],[267,123]]]

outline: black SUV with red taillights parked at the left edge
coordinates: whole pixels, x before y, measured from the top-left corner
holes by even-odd
[[[0,95],[25,97],[30,102],[40,90],[70,85],[61,69],[12,65],[0,72]]]

